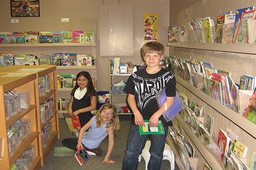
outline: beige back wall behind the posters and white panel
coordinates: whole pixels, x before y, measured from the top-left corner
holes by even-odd
[[[168,43],[167,30],[169,26],[169,0],[40,0],[40,17],[17,18],[19,23],[11,23],[10,0],[2,0],[0,10],[0,31],[62,31],[64,29],[81,28],[76,22],[79,18],[96,18],[97,20],[97,90],[108,90],[108,59],[113,57],[99,56],[98,32],[98,5],[100,4],[132,4],[133,5],[133,33],[134,33],[134,55],[116,56],[121,62],[142,62],[139,49],[143,44],[143,17],[144,14],[158,14],[159,42],[165,46]],[[60,18],[70,18],[70,22],[61,23]],[[16,18],[15,18],[16,19]],[[63,28],[63,29],[62,29]],[[70,49],[70,48],[69,48]],[[21,54],[28,54],[30,50],[25,48]],[[49,48],[48,48],[49,50]],[[52,48],[52,52],[69,52],[65,48]],[[60,50],[60,51],[57,51]],[[71,49],[72,50],[72,49]],[[0,48],[0,53],[12,53],[12,48]],[[16,51],[15,51],[16,52]],[[72,52],[75,52],[74,50]],[[16,54],[16,53],[15,53]],[[169,55],[169,47],[166,47],[165,55]]]

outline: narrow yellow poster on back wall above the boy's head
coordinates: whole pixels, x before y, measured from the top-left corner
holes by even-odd
[[[144,14],[144,43],[158,41],[158,14]]]

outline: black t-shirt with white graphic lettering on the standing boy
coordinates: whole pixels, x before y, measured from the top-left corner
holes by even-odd
[[[166,88],[166,95],[168,97],[175,96],[176,80],[172,72],[161,69],[155,74],[149,74],[146,69],[141,69],[130,76],[125,91],[135,95],[139,112],[144,120],[149,120],[159,109],[155,94],[164,88]],[[164,127],[172,125],[172,122],[167,123],[163,116],[160,116],[159,119],[162,120]],[[134,120],[133,124],[135,124]]]

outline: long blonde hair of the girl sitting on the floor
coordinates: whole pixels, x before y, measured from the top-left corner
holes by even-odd
[[[119,124],[119,117],[117,114],[117,109],[112,104],[104,104],[102,107],[96,112],[96,127],[101,127],[101,112],[105,109],[113,109],[113,117],[112,119],[107,123],[107,128],[112,127],[113,130],[119,130],[120,124]]]

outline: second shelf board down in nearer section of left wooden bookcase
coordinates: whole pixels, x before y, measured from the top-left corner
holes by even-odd
[[[10,166],[15,163],[19,156],[24,152],[24,150],[31,144],[32,141],[38,136],[39,132],[31,132],[22,143],[19,144],[17,148],[13,151],[13,156],[10,157]]]

